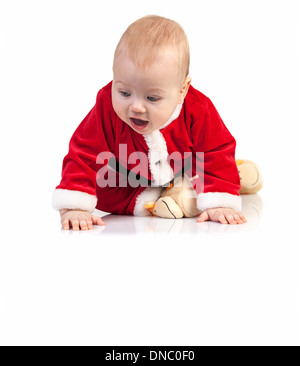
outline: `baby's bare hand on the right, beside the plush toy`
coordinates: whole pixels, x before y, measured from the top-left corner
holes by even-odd
[[[243,224],[247,222],[241,212],[237,212],[232,208],[209,208],[198,217],[197,222],[219,221],[221,224]]]

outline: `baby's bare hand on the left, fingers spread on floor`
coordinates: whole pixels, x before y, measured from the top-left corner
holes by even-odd
[[[60,210],[61,224],[64,230],[69,230],[70,225],[73,230],[91,230],[94,225],[105,225],[101,217],[93,216],[88,211],[80,210]]]

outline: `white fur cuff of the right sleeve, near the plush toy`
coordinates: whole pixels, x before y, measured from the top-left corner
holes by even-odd
[[[197,207],[200,211],[205,211],[208,208],[228,207],[241,212],[242,199],[230,193],[209,192],[200,193],[197,197]]]

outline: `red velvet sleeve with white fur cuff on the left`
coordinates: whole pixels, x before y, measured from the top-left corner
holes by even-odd
[[[96,104],[74,132],[63,160],[62,178],[53,195],[56,209],[93,211],[96,203],[97,156],[113,151],[113,112],[110,94],[101,89]]]

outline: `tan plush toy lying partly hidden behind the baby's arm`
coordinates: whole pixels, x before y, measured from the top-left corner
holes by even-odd
[[[262,187],[262,177],[259,167],[250,160],[236,161],[240,180],[240,194],[253,194]],[[195,217],[200,214],[197,208],[197,194],[187,176],[177,177],[156,200],[147,202],[145,208],[153,216],[167,219]]]

